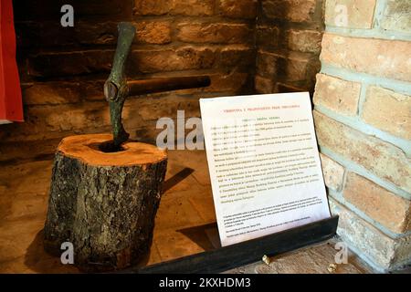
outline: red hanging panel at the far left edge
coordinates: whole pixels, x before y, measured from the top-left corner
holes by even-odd
[[[23,121],[12,0],[0,0],[0,123]]]

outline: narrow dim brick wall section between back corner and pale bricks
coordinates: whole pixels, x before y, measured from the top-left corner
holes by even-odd
[[[258,5],[258,93],[313,91],[320,71],[322,0],[261,0]]]

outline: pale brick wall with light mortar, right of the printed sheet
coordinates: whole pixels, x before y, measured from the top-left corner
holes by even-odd
[[[410,19],[409,0],[327,0],[314,95],[338,233],[381,270],[411,261]]]

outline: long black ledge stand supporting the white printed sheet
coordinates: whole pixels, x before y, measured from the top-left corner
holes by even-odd
[[[263,255],[279,255],[319,243],[335,235],[338,216],[259,237],[237,245],[228,245],[168,262],[123,272],[142,274],[220,273],[261,260]]]

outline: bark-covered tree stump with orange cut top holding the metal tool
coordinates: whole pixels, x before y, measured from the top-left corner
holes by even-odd
[[[127,141],[104,152],[108,134],[79,135],[58,145],[44,229],[45,249],[61,255],[74,247],[86,271],[136,264],[150,248],[167,167],[166,151]]]

